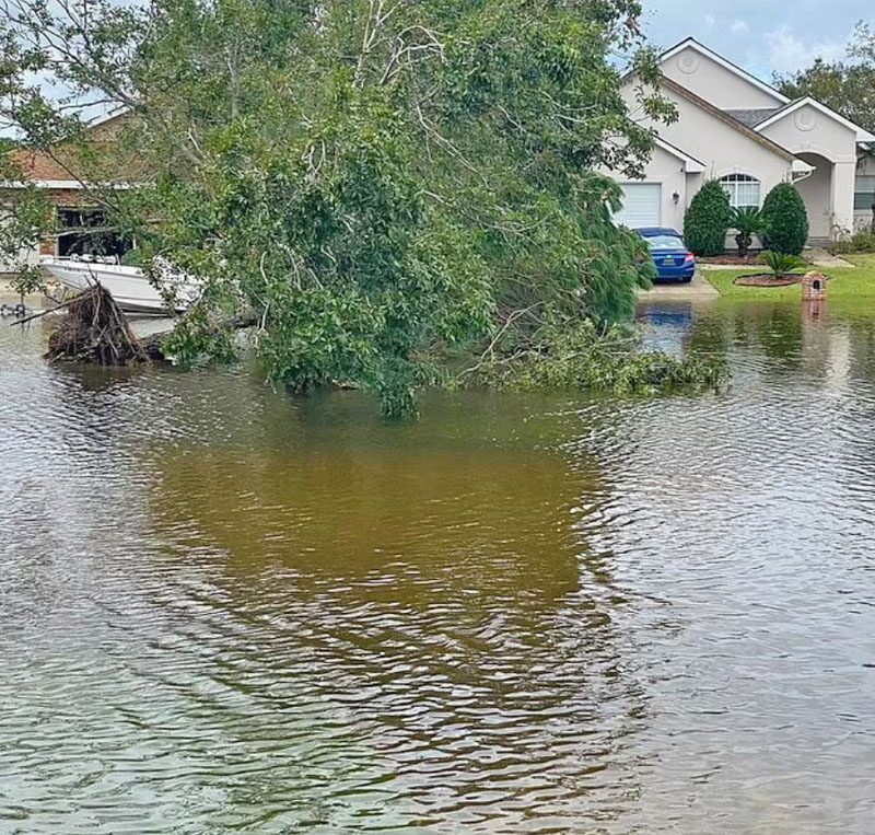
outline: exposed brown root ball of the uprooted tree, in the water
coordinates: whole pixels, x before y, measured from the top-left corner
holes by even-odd
[[[100,283],[71,299],[48,340],[46,359],[97,366],[149,362],[149,353],[130,329],[112,294]]]

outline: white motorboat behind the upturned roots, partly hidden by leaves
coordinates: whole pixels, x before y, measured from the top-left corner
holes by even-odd
[[[143,270],[122,266],[115,258],[47,257],[40,258],[39,264],[52,278],[71,290],[81,292],[100,282],[121,310],[132,313],[167,313],[168,309],[180,313],[191,306],[200,294],[197,281],[168,268],[159,270],[162,294],[150,283]]]

